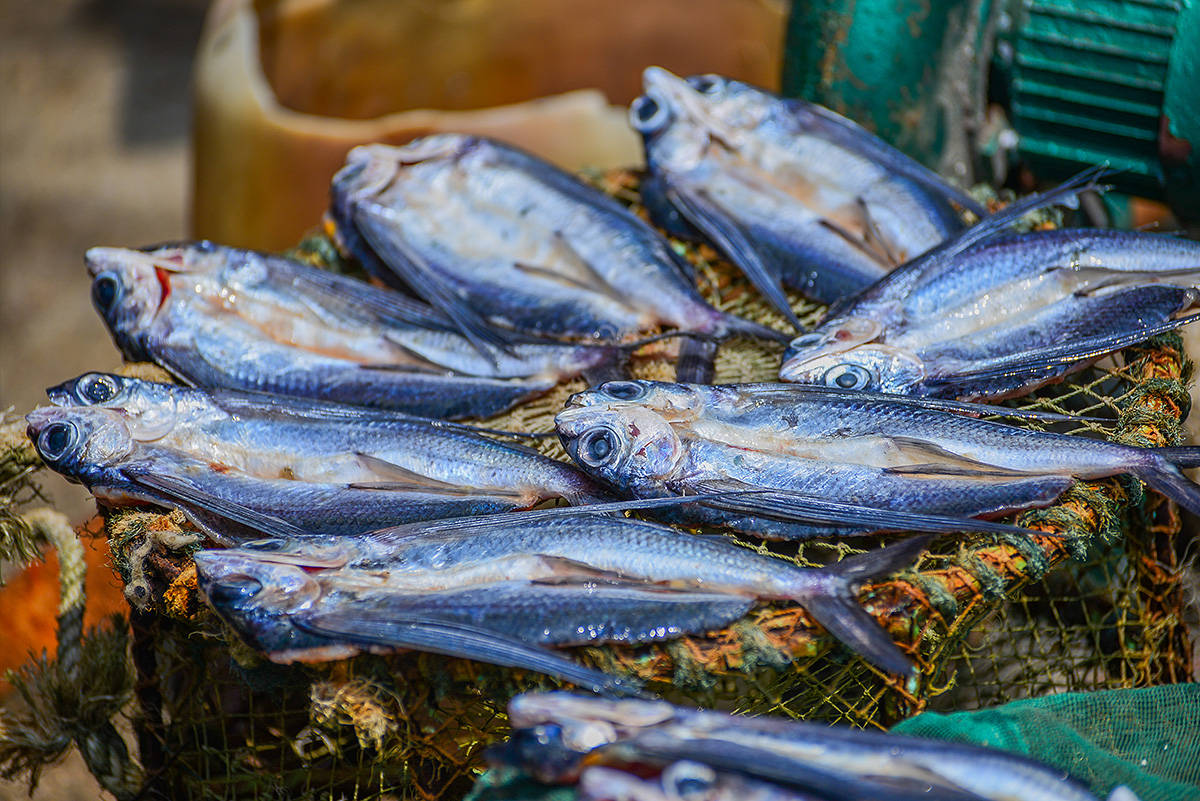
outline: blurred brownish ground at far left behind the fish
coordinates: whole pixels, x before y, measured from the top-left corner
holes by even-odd
[[[120,363],[83,253],[182,236],[188,74],[204,0],[0,0],[0,409]],[[48,477],[77,520],[92,504]],[[0,642],[4,642],[0,621]],[[74,754],[35,799],[96,799]],[[0,800],[23,799],[0,783]]]

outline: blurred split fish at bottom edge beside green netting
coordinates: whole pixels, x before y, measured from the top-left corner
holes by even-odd
[[[670,783],[668,770],[686,761],[779,788],[781,795],[767,797],[1096,801],[1032,759],[941,740],[566,692],[518,695],[509,717],[512,737],[493,761],[550,783],[574,783],[596,766],[640,776],[656,767]]]

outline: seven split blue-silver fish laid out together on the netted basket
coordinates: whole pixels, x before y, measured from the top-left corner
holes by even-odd
[[[203,596],[272,660],[418,649],[608,692],[636,688],[557,649],[704,634],[763,601],[913,670],[856,594],[928,537],[805,570],[722,531],[1038,534],[997,518],[1117,474],[1200,513],[1180,471],[1200,448],[1042,433],[982,416],[1062,417],[979,403],[1195,319],[1200,245],[1016,234],[1098,174],[988,216],[821,107],[656,67],[644,83],[630,120],[654,222],[713,245],[797,329],[785,287],[830,303],[816,329],[715,308],[658,230],[510,145],[371,145],[329,218],[376,283],[209,242],[89,251],[118,348],[179,384],[53,387],[28,417],[42,458],[104,505],[181,510],[214,546]],[[709,386],[731,337],[791,341],[788,383]],[[678,383],[632,380],[631,354],[664,338]],[[556,420],[574,464],[450,422],[578,377],[592,389]]]

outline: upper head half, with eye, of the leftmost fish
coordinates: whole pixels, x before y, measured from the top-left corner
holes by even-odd
[[[84,373],[46,391],[56,406],[102,406],[119,412],[130,434],[154,441],[175,427],[175,386],[114,373]]]

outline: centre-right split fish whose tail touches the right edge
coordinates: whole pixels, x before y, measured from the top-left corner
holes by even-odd
[[[937,528],[946,518],[973,526],[1046,506],[1075,480],[1120,474],[1200,512],[1200,487],[1180,471],[1200,458],[1194,446],[1142,448],[1038,432],[905,396],[619,381],[572,396],[556,428],[576,464],[630,496],[780,490],[674,512],[762,537],[908,530],[892,517],[900,513],[920,526],[911,530],[947,530]],[[767,519],[780,512],[792,519]]]

